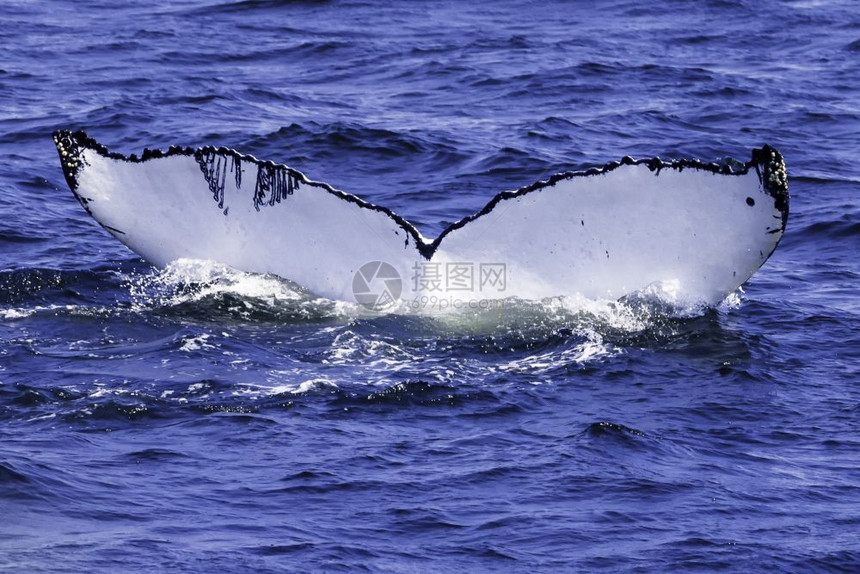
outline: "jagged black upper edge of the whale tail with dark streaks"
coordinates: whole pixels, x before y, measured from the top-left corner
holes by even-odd
[[[526,187],[522,187],[515,191],[505,191],[493,197],[480,211],[464,217],[459,221],[452,223],[445,228],[439,236],[431,243],[426,243],[418,230],[408,221],[397,215],[390,209],[369,203],[360,197],[337,190],[330,185],[322,182],[312,181],[303,173],[289,166],[275,164],[270,161],[261,161],[254,156],[244,155],[235,150],[212,146],[193,149],[190,147],[173,146],[166,152],[160,150],[144,149],[140,157],[136,155],[124,156],[122,154],[108,151],[102,144],[90,138],[83,131],[72,132],[69,130],[59,130],[54,133],[54,142],[57,145],[57,151],[60,154],[60,161],[63,167],[63,174],[66,182],[75,193],[75,196],[87,210],[87,213],[92,215],[92,212],[87,207],[87,201],[78,195],[78,174],[85,165],[82,151],[85,149],[93,150],[96,153],[115,160],[126,161],[132,163],[142,163],[152,159],[169,157],[174,155],[192,156],[200,166],[200,170],[209,186],[209,191],[212,193],[213,199],[217,202],[220,208],[224,208],[224,189],[228,174],[233,174],[236,188],[242,187],[242,163],[253,164],[257,166],[257,178],[254,184],[253,202],[254,207],[259,211],[264,206],[274,206],[281,203],[286,198],[298,190],[299,186],[311,186],[321,189],[336,197],[353,203],[361,208],[370,209],[385,213],[394,220],[403,230],[406,231],[406,245],[409,244],[409,237],[415,241],[418,251],[426,259],[430,259],[438,249],[440,243],[446,235],[452,231],[459,229],[467,223],[478,219],[490,213],[500,202],[509,199],[522,197],[528,193],[540,191],[547,187],[552,187],[557,183],[576,177],[594,177],[605,175],[621,166],[628,165],[645,165],[649,170],[659,176],[663,170],[673,169],[679,172],[685,169],[695,169],[707,171],[719,175],[746,175],[751,169],[754,169],[758,174],[762,189],[771,196],[774,200],[774,206],[781,214],[782,225],[780,229],[774,229],[769,233],[779,233],[785,230],[788,222],[788,175],[785,169],[785,163],[782,155],[769,145],[764,145],[760,149],[752,151],[751,159],[740,164],[731,160],[722,164],[705,163],[698,159],[676,159],[662,160],[659,157],[634,159],[630,156],[624,156],[620,161],[609,162],[602,167],[592,167],[580,171],[568,171],[558,173],[552,177],[537,181]],[[750,204],[750,199],[747,203]],[[755,200],[753,200],[753,204]],[[225,211],[226,215],[226,211]],[[584,221],[580,222],[585,225]],[[119,230],[112,230],[118,231]]]

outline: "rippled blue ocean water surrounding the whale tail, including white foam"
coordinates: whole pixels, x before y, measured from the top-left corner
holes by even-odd
[[[5,0],[0,21],[0,570],[860,570],[856,2]],[[287,163],[431,237],[559,171],[768,143],[791,216],[713,309],[371,313],[149,266],[69,192],[61,128]]]

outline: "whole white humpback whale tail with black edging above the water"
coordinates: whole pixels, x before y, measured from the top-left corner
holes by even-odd
[[[617,299],[668,282],[715,304],[764,264],[788,219],[785,164],[767,145],[743,165],[624,157],[560,173],[430,240],[390,209],[232,149],[124,156],[82,131],[54,141],[87,213],[151,263],[214,260],[348,301],[356,278],[374,293],[366,265],[379,262],[389,299],[396,275],[405,300]]]

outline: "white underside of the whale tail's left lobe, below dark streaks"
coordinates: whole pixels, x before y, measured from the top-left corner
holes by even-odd
[[[421,258],[412,238],[407,245],[406,231],[387,214],[310,185],[258,211],[251,197],[257,170],[252,162],[242,162],[250,189],[237,188],[228,177],[219,207],[193,157],[131,163],[87,150],[84,161],[89,165],[81,170],[78,189],[92,216],[160,267],[177,259],[218,261],[352,300],[352,279],[364,263],[386,261],[405,273]]]

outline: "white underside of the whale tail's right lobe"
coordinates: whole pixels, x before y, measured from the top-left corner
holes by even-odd
[[[440,255],[504,261],[522,297],[615,299],[660,282],[715,303],[761,267],[780,221],[755,172],[624,165],[501,201],[446,236]]]

